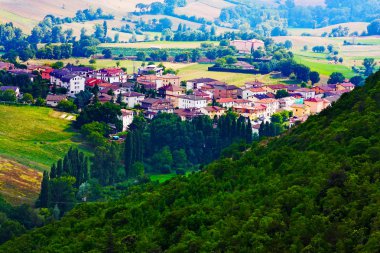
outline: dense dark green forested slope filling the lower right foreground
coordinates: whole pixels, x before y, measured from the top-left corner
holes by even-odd
[[[0,251],[379,252],[379,130],[380,72],[286,136],[82,204]]]

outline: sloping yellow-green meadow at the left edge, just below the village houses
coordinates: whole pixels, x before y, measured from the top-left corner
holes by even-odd
[[[29,168],[50,169],[71,146],[82,147],[67,116],[49,108],[0,105],[0,155]]]

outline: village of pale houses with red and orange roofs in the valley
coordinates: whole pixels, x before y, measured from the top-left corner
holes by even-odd
[[[8,71],[15,71],[11,65]],[[320,113],[355,85],[345,81],[336,85],[319,85],[301,88],[297,85],[268,85],[258,81],[247,82],[237,87],[212,78],[197,78],[181,82],[181,77],[163,75],[162,68],[150,65],[139,69],[139,74],[128,76],[122,69],[108,68],[93,70],[88,67],[66,66],[53,70],[44,66],[29,66],[25,73],[38,71],[49,79],[52,86],[67,90],[66,95],[48,95],[47,104],[57,106],[67,97],[75,97],[81,91],[99,89],[100,102],[116,102],[117,99],[128,108],[139,108],[148,119],[158,113],[175,113],[183,120],[191,120],[200,115],[220,117],[226,110],[251,119],[254,127],[270,121],[271,116],[281,111],[292,111],[291,121],[303,122],[310,115]],[[136,92],[153,90],[150,97]],[[4,89],[4,87],[2,88]],[[13,89],[13,88],[12,88]],[[277,98],[283,91],[286,97]],[[132,111],[123,111],[123,122],[131,123]],[[126,128],[128,125],[125,125]]]

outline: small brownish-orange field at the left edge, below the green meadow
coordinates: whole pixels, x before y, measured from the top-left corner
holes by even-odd
[[[33,204],[37,199],[42,173],[0,157],[0,194],[13,205]]]

